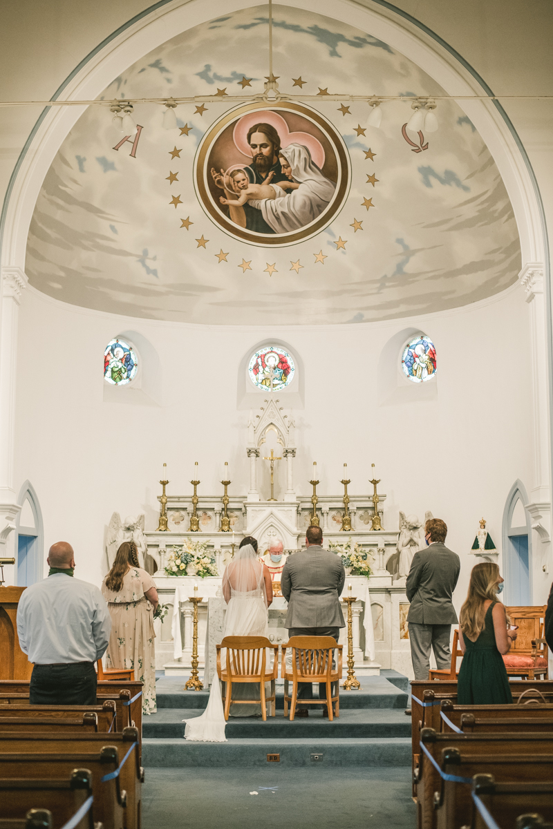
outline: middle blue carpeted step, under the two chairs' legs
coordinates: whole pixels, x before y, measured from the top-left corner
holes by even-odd
[[[143,736],[150,739],[182,738],[185,724],[182,720],[199,716],[195,709],[165,708],[157,714],[144,717]],[[321,709],[311,710],[308,718],[290,722],[282,711],[264,722],[260,717],[230,717],[226,725],[227,739],[342,739],[363,737],[409,737],[411,720],[403,711],[386,709],[341,708],[340,716],[332,723],[323,719]]]

